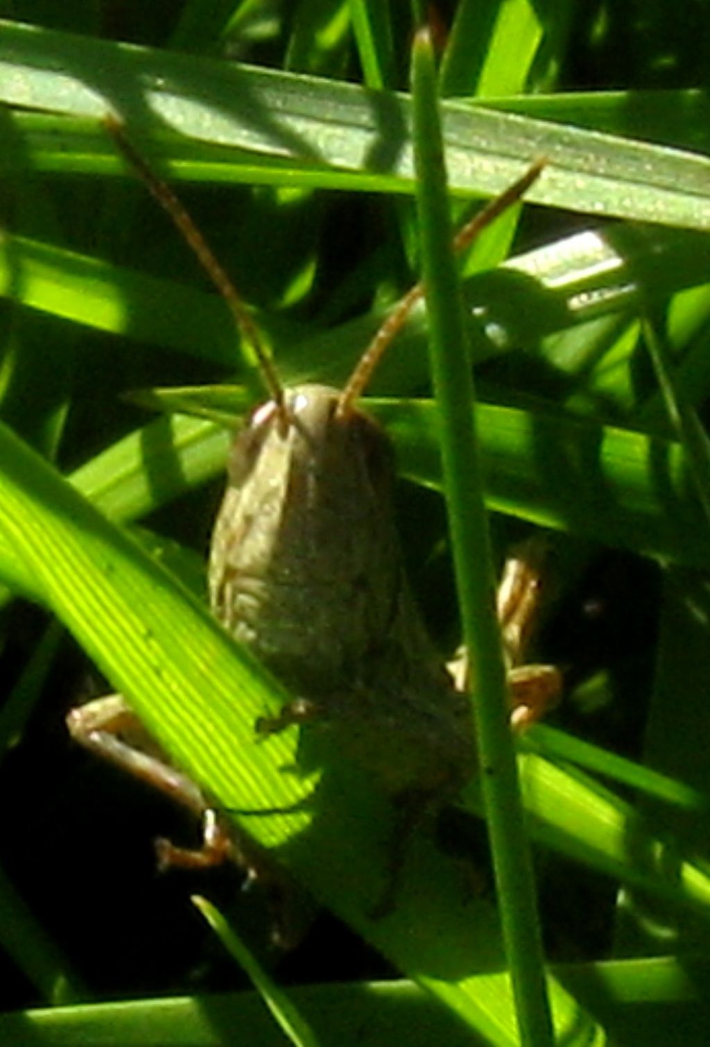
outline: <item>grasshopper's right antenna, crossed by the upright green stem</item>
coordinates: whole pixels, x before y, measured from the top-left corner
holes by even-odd
[[[535,160],[522,178],[519,178],[517,182],[513,182],[507,190],[504,190],[500,196],[497,196],[487,203],[477,215],[474,215],[454,237],[454,251],[460,254],[499,215],[502,215],[503,211],[520,200],[532,183],[540,178],[546,163],[547,160],[544,158]],[[423,282],[419,281],[392,307],[391,312],[385,318],[382,327],[361,356],[358,365],[340,394],[336,408],[338,417],[344,418],[352,410],[354,401],[359,399],[367,386],[372,377],[372,372],[380,363],[388,346],[405,326],[409,314],[419,298],[423,297]]]

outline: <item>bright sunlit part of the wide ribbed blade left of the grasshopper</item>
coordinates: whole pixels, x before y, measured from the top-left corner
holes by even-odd
[[[270,760],[253,744],[252,723],[274,685],[247,655],[239,666],[225,632],[137,544],[7,429],[0,439],[0,532],[26,564],[35,598],[62,618],[114,686],[131,696],[148,728],[169,751],[180,752],[199,781],[209,781],[225,807],[253,806],[248,759],[235,759],[235,753],[242,748],[256,755],[269,777]],[[219,710],[225,721],[213,735],[208,722]],[[186,725],[190,713],[196,721],[202,715],[202,729]],[[283,744],[275,740],[277,751]],[[224,770],[221,752],[231,754],[231,771]],[[293,784],[289,788],[273,765],[271,777],[284,787],[280,805],[293,802]]]

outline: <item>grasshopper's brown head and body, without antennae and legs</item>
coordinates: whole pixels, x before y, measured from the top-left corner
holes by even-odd
[[[474,767],[468,703],[405,577],[389,440],[362,411],[339,414],[340,397],[299,386],[236,438],[212,609],[387,792],[456,788]]]

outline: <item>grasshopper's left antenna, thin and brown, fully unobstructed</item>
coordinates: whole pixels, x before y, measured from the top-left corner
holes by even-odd
[[[269,395],[274,400],[277,408],[282,411],[283,386],[276,374],[271,357],[264,348],[264,342],[261,341],[256,325],[251,318],[242,296],[217,261],[211,247],[167,182],[152,170],[143,157],[131,144],[122,121],[117,116],[109,114],[104,118],[104,126],[115,141],[118,151],[140,176],[142,181],[145,182],[152,196],[155,197],[163,210],[171,218],[178,231],[182,233],[183,239],[192,248],[200,265],[229,306],[239,334],[254,351]]]

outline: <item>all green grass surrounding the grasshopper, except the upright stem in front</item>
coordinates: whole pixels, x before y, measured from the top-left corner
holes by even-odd
[[[246,988],[208,992],[245,983],[227,960],[205,962],[216,946],[188,888],[153,878],[150,838],[167,831],[169,812],[146,824],[145,795],[69,745],[63,715],[83,697],[84,663],[14,599],[56,616],[225,807],[288,805],[311,789],[285,770],[292,733],[255,743],[254,719],[278,707],[278,689],[215,627],[201,593],[227,435],[180,409],[199,399],[229,419],[258,402],[257,379],[227,310],[98,118],[120,113],[177,185],[284,379],[339,383],[429,250],[412,200],[412,23],[404,5],[354,0],[206,6],[127,5],[117,27],[98,6],[63,4],[50,24],[38,5],[22,12],[35,25],[0,32],[1,1006],[15,1012],[0,1029],[14,1042],[216,1043],[237,1022],[253,1023],[249,1042],[282,1042]],[[461,289],[497,558],[536,527],[553,550],[537,653],[563,664],[569,688],[555,730],[521,742],[519,772],[557,964],[555,1030],[569,1042],[703,1043],[704,26],[662,3],[638,25],[593,5],[558,4],[542,20],[527,2],[453,6],[441,113],[456,214],[549,160],[535,206],[487,232]],[[225,62],[228,48],[249,65]],[[413,482],[397,499],[406,553],[451,650],[460,626],[427,340],[421,308],[375,376],[371,409]],[[226,382],[238,388],[204,391]],[[168,386],[203,392],[162,394],[178,414],[157,420],[123,398]],[[582,606],[600,608],[602,624]],[[416,1028],[421,1043],[472,1029],[514,1043],[490,893],[472,898],[426,833],[396,912],[366,915],[388,817],[366,777],[352,768],[315,819],[300,809],[247,824],[418,987],[376,984],[374,960],[344,964],[346,984],[319,984],[354,953],[321,932],[325,962],[293,1001],[323,1043],[349,1042],[354,1016],[393,1023],[390,1042],[412,1043]],[[503,899],[513,921],[519,901]],[[242,940],[245,907],[227,895],[223,908]],[[69,1001],[82,1006],[56,1006]]]

